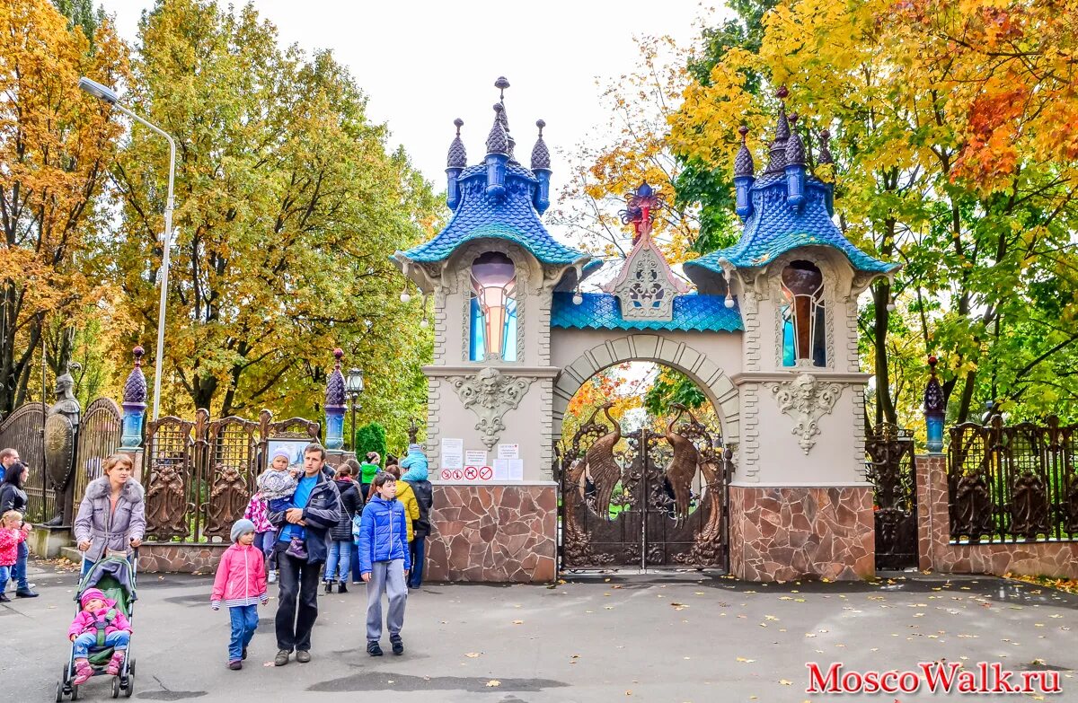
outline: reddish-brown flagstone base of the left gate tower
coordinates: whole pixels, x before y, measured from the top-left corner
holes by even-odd
[[[434,485],[430,581],[531,582],[556,576],[554,483]]]

